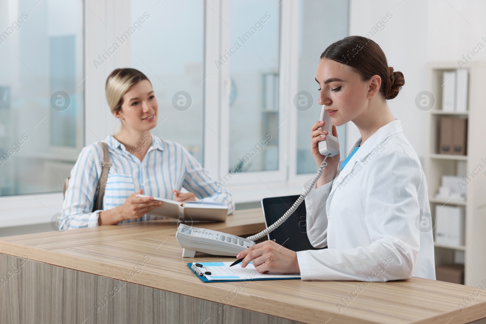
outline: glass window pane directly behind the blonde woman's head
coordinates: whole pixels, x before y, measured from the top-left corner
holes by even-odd
[[[136,32],[130,37],[131,67],[148,76],[158,102],[158,126],[152,133],[182,144],[200,163],[204,138],[203,5],[200,0],[164,0],[156,6],[154,1],[132,0],[131,21]]]

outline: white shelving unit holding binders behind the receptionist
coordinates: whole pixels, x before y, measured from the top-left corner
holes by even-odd
[[[436,241],[435,265],[464,263],[465,284],[478,287],[484,285],[481,280],[486,279],[486,63],[470,62],[465,67],[469,70],[469,110],[442,111],[442,72],[457,68],[457,62],[427,64],[426,90],[434,95],[435,105],[432,110],[425,113],[424,171],[433,216],[435,205],[465,207],[465,245],[450,246]],[[440,117],[445,115],[468,118],[467,155],[438,154]],[[467,186],[466,201],[435,199],[442,175],[467,176],[469,172],[478,170],[480,165],[484,170],[473,179],[471,177],[472,180]]]

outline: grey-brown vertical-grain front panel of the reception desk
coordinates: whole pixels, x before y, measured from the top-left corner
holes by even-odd
[[[19,261],[22,258],[0,254],[0,269]],[[0,289],[0,323],[299,324],[33,260]]]

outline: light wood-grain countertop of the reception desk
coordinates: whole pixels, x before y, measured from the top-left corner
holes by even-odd
[[[245,237],[262,230],[264,219],[255,208],[237,211],[224,223],[192,225]],[[0,253],[301,323],[456,324],[486,318],[486,291],[416,277],[384,283],[204,283],[186,263],[234,258],[202,253],[183,258],[176,227],[175,221],[159,220],[5,237],[0,238]],[[12,269],[0,270],[3,277]]]

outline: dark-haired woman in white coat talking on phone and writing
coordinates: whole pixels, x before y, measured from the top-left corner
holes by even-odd
[[[260,273],[300,273],[302,280],[435,279],[432,230],[420,225],[430,220],[423,217],[430,215],[427,182],[403,122],[387,105],[404,85],[403,74],[388,67],[374,41],[348,36],[322,53],[315,80],[333,135],[347,121],[361,134],[346,159],[337,154],[326,160],[305,198],[309,240],[328,248],[294,252],[265,241],[237,256],[244,257],[242,267],[253,261]],[[327,135],[318,129],[322,125],[311,128],[317,166],[324,160],[318,150]]]

